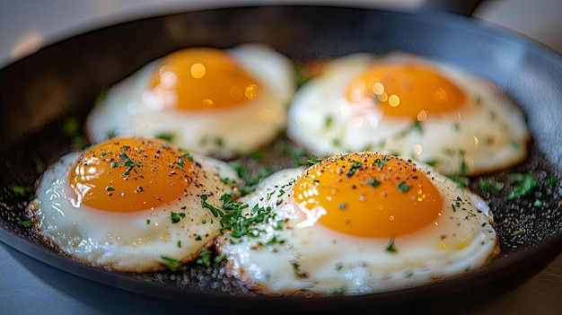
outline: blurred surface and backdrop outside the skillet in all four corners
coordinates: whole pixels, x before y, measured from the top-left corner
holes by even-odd
[[[452,0],[453,1],[453,0]],[[241,4],[338,4],[415,12],[425,0],[0,0],[0,68],[58,40],[151,15]],[[480,22],[523,36],[562,54],[562,0],[485,0],[473,14]],[[502,299],[478,309],[510,314],[558,314],[562,310],[562,257]],[[97,314],[43,284],[0,247],[0,313]],[[546,286],[545,286],[546,284]]]

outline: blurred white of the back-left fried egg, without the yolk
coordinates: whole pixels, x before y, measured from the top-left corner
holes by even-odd
[[[171,136],[184,150],[229,158],[270,143],[286,126],[294,67],[271,48],[245,44],[225,49],[259,83],[259,96],[234,109],[162,110],[145,92],[159,60],[110,88],[92,109],[86,132],[93,143],[112,136]]]

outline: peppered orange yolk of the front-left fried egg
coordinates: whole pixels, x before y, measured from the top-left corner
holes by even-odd
[[[135,212],[185,196],[196,176],[188,153],[161,140],[133,137],[93,146],[75,163],[68,180],[78,205]]]

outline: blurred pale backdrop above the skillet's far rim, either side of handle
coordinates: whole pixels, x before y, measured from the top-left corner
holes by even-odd
[[[241,4],[338,4],[415,12],[426,0],[0,0],[0,66],[84,31],[176,11]],[[456,1],[456,0],[451,0]],[[562,0],[485,0],[474,16],[562,53]]]

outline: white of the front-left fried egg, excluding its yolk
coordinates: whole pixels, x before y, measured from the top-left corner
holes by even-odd
[[[76,206],[67,178],[79,156],[68,153],[44,172],[26,213],[41,241],[69,258],[110,271],[162,270],[168,261],[198,258],[221,227],[201,206],[200,196],[206,194],[209,203],[216,203],[240,183],[228,164],[193,154],[193,162],[201,169],[197,190],[154,209],[115,213]],[[178,223],[172,223],[172,213],[179,215]]]

